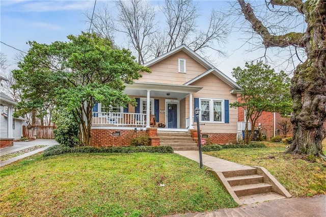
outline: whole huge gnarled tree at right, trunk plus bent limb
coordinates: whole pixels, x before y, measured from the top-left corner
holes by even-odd
[[[287,153],[308,154],[326,157],[322,153],[324,138],[323,122],[326,117],[326,3],[325,1],[305,2],[298,0],[270,0],[266,4],[286,11],[291,8],[305,17],[304,32],[273,32],[266,22],[262,22],[249,3],[238,0],[241,11],[251,24],[251,28],[268,47],[300,47],[307,53],[307,60],[298,65],[291,80],[293,99],[293,141]],[[278,16],[275,15],[275,18]]]

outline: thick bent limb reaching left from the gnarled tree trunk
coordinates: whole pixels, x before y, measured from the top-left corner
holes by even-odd
[[[271,35],[266,26],[256,17],[253,9],[249,3],[244,0],[238,0],[244,17],[251,23],[253,30],[258,33],[262,39],[265,47],[287,47],[290,45],[297,47],[306,47],[304,42],[304,33],[287,33],[285,35],[274,36]]]

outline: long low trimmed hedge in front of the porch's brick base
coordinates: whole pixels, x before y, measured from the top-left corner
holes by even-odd
[[[68,147],[56,145],[46,149],[43,156],[59,155],[65,153],[173,153],[170,146],[123,146],[123,147],[93,147],[93,146],[76,146]]]

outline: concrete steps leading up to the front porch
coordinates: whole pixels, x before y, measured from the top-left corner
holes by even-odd
[[[157,131],[160,146],[171,146],[174,151],[198,150],[189,132]]]

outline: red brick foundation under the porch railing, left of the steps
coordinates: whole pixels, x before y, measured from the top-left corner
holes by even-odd
[[[149,145],[159,146],[157,128],[147,130],[91,129],[91,145],[97,147],[129,146],[130,141],[140,135],[148,135]]]

